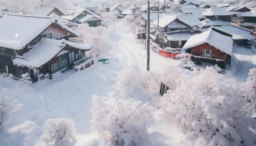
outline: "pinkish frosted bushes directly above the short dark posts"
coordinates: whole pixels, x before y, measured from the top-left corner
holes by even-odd
[[[183,76],[181,68],[176,66],[167,66],[162,72],[143,72],[139,79],[139,84],[147,91],[159,92],[161,82],[169,87],[175,89],[177,87],[176,81]]]

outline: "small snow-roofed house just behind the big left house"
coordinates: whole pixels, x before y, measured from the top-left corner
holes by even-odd
[[[89,16],[87,16],[87,15],[89,15]],[[93,17],[91,17],[90,15],[93,15]],[[84,18],[85,16],[87,16],[86,18],[90,18],[90,17],[93,18],[93,19],[90,18],[89,23],[91,24],[91,26],[92,26],[92,24],[94,26],[98,26],[97,24],[100,25],[99,21],[102,21],[102,19],[99,18],[99,16],[97,14],[95,14],[91,11],[88,11],[87,9],[84,9],[84,8],[74,9],[74,10],[69,9],[69,15],[62,16],[62,18],[69,20],[69,22],[71,22],[71,23],[78,23],[78,21],[81,20],[82,18]],[[84,20],[88,21],[87,19],[83,19],[80,21],[80,23],[86,22]]]

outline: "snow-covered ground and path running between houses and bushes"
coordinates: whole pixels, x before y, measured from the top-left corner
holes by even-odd
[[[53,79],[44,79],[35,84],[21,84],[11,77],[0,75],[0,91],[7,89],[12,100],[18,100],[24,107],[18,114],[9,118],[1,126],[0,145],[3,146],[44,146],[40,135],[44,132],[46,119],[67,118],[75,122],[76,141],[61,144],[63,146],[105,146],[115,145],[105,135],[92,134],[90,108],[93,107],[92,96],[116,97],[113,85],[118,81],[118,74],[129,65],[137,65],[146,70],[146,50],[143,44],[136,42],[133,30],[123,26],[122,22],[113,21],[109,25],[110,53],[94,58],[95,64],[89,68],[53,74]],[[109,64],[97,62],[108,58]],[[248,49],[234,48],[232,64],[225,77],[235,77],[240,82],[246,81],[250,68],[256,66],[256,56]],[[182,66],[177,59],[169,59],[150,51],[150,70],[161,72],[166,66]],[[189,74],[188,69],[182,70]],[[138,71],[138,70],[137,70]],[[132,100],[150,102],[150,95],[138,83],[131,93]],[[154,113],[155,123],[148,128],[149,138],[142,146],[196,146],[199,141],[168,115],[161,111]],[[7,129],[7,130],[5,130]]]

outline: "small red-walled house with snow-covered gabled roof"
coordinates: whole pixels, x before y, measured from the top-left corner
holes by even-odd
[[[212,29],[188,39],[183,49],[191,51],[191,61],[198,66],[215,66],[226,69],[233,55],[233,40]]]

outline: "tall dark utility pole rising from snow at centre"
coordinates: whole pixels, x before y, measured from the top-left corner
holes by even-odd
[[[147,0],[147,71],[149,71],[150,64],[150,7],[149,0]]]

